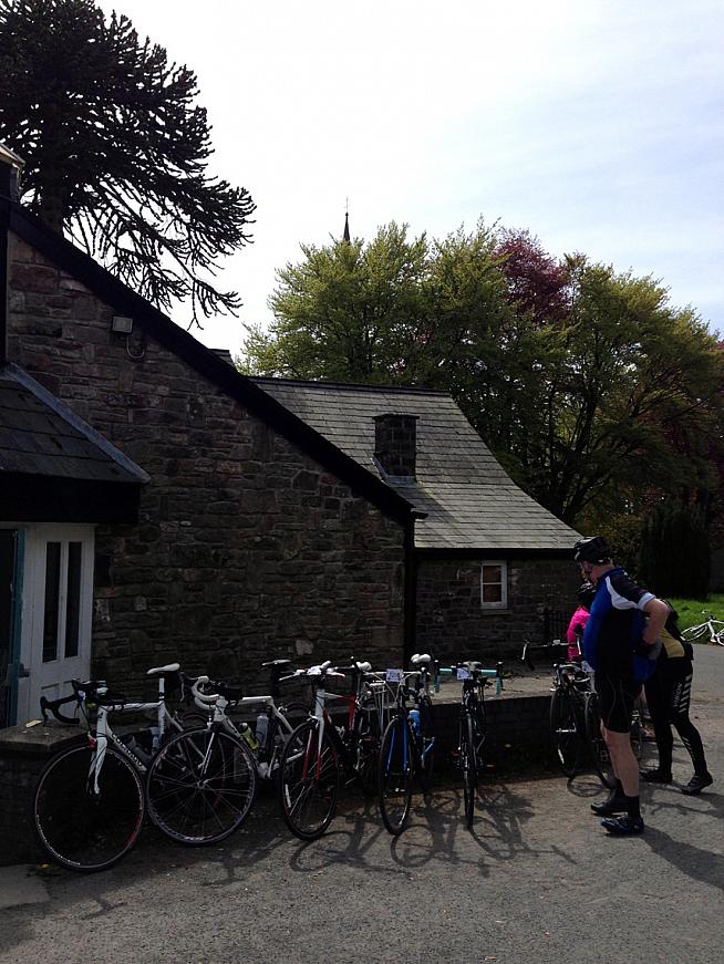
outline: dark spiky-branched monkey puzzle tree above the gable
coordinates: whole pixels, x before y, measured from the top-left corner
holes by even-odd
[[[0,0],[0,70],[22,201],[156,304],[236,311],[215,266],[250,239],[255,205],[207,174],[194,73],[92,0]]]

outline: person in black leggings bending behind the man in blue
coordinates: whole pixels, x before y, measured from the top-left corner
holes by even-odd
[[[656,672],[644,684],[656,738],[659,766],[652,770],[644,770],[641,776],[650,784],[672,781],[671,760],[674,738],[671,726],[673,724],[694,765],[694,776],[681,788],[681,791],[690,796],[701,794],[705,787],[711,786],[713,779],[706,767],[702,738],[689,718],[691,684],[694,675],[692,645],[682,641],[673,609],[661,633],[661,642],[663,646]]]

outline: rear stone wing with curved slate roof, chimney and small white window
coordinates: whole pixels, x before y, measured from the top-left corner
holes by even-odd
[[[410,556],[420,650],[519,653],[547,612],[570,610],[578,533],[514,485],[449,395],[255,381],[424,514]]]

